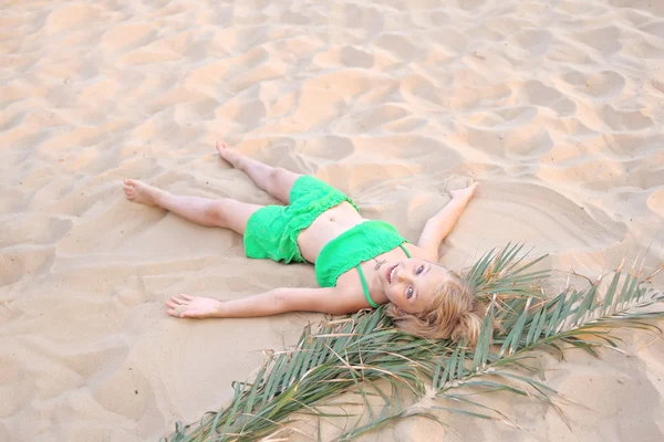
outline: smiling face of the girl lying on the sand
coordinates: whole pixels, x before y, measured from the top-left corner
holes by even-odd
[[[445,267],[416,257],[392,262],[381,270],[387,299],[406,313],[427,309],[447,277]]]

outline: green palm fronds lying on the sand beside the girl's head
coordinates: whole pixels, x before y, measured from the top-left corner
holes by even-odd
[[[308,326],[292,350],[269,354],[251,382],[234,382],[228,408],[206,413],[198,425],[178,422],[169,440],[258,440],[280,434],[291,428],[289,417],[294,412],[331,418],[319,406],[351,391],[362,399],[366,415],[344,430],[341,440],[414,414],[445,424],[427,409],[400,408],[400,389],[416,402],[433,388],[437,400],[453,404],[434,409],[516,427],[480,398],[495,392],[528,397],[552,407],[568,422],[559,406],[564,398],[542,381],[538,351],[553,349],[563,356],[578,348],[599,357],[602,348],[619,348],[613,334],[618,327],[661,333],[653,319],[664,316],[664,293],[643,286],[635,262],[626,272],[622,265],[613,272],[605,290],[602,281],[609,274],[588,280],[583,290],[566,288],[546,297],[542,282],[549,273],[532,271],[544,256],[527,261],[522,248],[492,250],[468,272],[478,296],[490,295],[475,348],[401,333],[383,307]],[[495,328],[495,322],[502,327]],[[390,394],[376,383],[381,381],[391,387]],[[473,392],[464,393],[465,389]],[[374,412],[371,398],[383,400],[380,411]]]

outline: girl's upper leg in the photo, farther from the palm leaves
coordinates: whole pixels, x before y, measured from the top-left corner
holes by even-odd
[[[230,149],[225,143],[217,143],[216,148],[221,158],[247,173],[259,188],[284,204],[290,203],[291,188],[301,175],[251,159]]]

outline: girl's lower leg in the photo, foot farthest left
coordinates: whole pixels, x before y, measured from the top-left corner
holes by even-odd
[[[230,198],[178,197],[131,179],[124,181],[124,192],[129,201],[158,206],[196,224],[231,229],[240,234],[245,233],[249,217],[262,208]]]

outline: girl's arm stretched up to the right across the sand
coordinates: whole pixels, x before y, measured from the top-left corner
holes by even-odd
[[[465,189],[449,192],[452,200],[424,225],[417,245],[427,252],[430,261],[438,261],[440,243],[452,231],[464,209],[466,209],[477,186],[478,183],[474,182]]]

